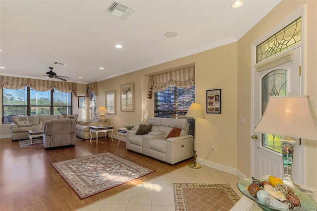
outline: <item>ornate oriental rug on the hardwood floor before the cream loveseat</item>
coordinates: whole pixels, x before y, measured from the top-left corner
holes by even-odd
[[[80,199],[154,172],[109,151],[51,165]]]

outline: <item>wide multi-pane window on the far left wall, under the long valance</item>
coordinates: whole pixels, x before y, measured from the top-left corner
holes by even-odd
[[[12,122],[13,115],[54,115],[71,114],[71,92],[36,91],[2,88],[2,123]]]

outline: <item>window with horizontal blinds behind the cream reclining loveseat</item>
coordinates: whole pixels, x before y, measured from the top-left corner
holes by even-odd
[[[194,136],[195,122],[185,115],[190,105],[195,102],[195,86],[178,88],[170,85],[164,91],[154,93],[154,116],[161,118],[188,119],[189,134]]]

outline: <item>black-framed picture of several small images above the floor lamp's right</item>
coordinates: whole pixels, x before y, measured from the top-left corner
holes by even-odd
[[[221,89],[207,90],[207,114],[221,114]]]

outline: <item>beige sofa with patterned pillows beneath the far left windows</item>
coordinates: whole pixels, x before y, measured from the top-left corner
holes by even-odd
[[[78,114],[74,115],[35,115],[35,116],[12,116],[13,123],[9,125],[12,141],[20,139],[29,139],[28,130],[35,130],[38,125],[44,125],[45,121],[53,119],[76,119]]]

